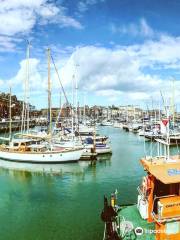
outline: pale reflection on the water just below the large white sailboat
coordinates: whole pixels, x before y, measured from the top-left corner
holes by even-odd
[[[40,163],[21,163],[0,160],[0,174],[8,173],[10,176],[24,179],[32,176],[63,176],[63,175],[83,175],[86,171],[92,171],[95,174],[97,164],[101,166],[110,166],[111,155],[99,156],[93,161],[79,161],[77,163],[66,164],[40,164]]]

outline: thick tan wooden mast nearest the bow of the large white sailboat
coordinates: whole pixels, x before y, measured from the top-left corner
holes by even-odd
[[[52,111],[51,111],[51,50],[48,48],[47,50],[48,55],[48,121],[49,121],[49,128],[48,133],[52,134]]]

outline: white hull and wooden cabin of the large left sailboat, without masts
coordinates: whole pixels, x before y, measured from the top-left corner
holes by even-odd
[[[78,161],[83,148],[62,148],[34,139],[13,139],[10,145],[0,145],[0,158],[31,163],[62,163]]]

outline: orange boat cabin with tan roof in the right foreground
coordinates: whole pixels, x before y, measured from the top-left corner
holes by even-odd
[[[155,223],[157,240],[180,239],[180,157],[142,159],[147,172],[138,188],[139,213]]]

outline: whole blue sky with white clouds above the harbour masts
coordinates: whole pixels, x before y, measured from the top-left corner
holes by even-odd
[[[179,99],[180,1],[0,0],[0,88],[23,98],[26,40],[30,50],[30,101],[46,107],[47,59],[51,48],[71,101],[90,105],[146,105],[169,99],[175,79]],[[78,65],[78,67],[76,67]],[[53,105],[60,86],[52,68]],[[64,101],[64,100],[63,100]]]

